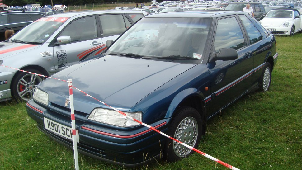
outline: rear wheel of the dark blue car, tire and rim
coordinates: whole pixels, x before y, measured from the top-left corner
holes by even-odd
[[[271,64],[266,62],[259,79],[259,87],[262,92],[268,91],[271,85]]]

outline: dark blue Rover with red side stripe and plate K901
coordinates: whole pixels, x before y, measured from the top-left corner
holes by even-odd
[[[111,43],[53,76],[72,78],[74,87],[196,148],[207,120],[244,94],[269,89],[278,56],[274,35],[244,12],[148,15]],[[71,133],[53,128],[70,129],[68,98],[67,83],[48,78],[26,108],[39,130],[72,148]],[[73,99],[80,153],[138,166],[193,152],[79,91]]]

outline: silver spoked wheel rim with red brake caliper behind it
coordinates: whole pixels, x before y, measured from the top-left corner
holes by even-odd
[[[19,97],[25,101],[32,99],[34,91],[40,82],[42,82],[42,78],[37,75],[24,75],[17,84],[17,92]]]

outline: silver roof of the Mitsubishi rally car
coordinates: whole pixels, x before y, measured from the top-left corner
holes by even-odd
[[[95,14],[114,14],[114,13],[142,13],[140,11],[132,10],[106,10],[106,11],[79,11],[79,12],[65,12],[56,14],[56,17],[74,17],[74,16],[86,16]],[[147,15],[147,13],[145,14]],[[49,16],[52,17],[52,16]]]

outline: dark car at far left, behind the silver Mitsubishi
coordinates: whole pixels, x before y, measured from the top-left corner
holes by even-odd
[[[16,32],[32,23],[33,21],[47,16],[38,11],[3,11],[0,12],[0,41],[4,41],[4,32],[13,29]]]

